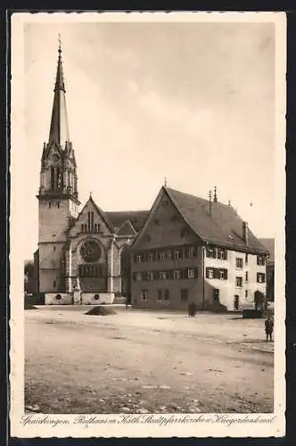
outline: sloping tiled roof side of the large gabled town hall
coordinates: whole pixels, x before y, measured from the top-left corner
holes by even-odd
[[[185,194],[184,192],[163,187],[170,200],[175,204],[186,223],[193,228],[203,242],[219,244],[228,249],[267,253],[267,249],[249,229],[249,241],[243,241],[243,219],[232,206],[221,202]]]

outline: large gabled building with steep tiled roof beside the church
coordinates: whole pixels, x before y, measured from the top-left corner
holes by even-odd
[[[243,310],[266,296],[267,249],[216,194],[161,187],[131,252],[136,307]]]

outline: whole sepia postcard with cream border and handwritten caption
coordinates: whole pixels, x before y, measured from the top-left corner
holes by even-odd
[[[282,13],[13,14],[12,434],[284,434],[284,115]]]

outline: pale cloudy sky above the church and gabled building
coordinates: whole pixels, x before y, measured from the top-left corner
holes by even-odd
[[[231,200],[257,236],[274,236],[273,23],[31,23],[28,255],[37,247],[59,33],[82,205],[92,191],[105,211],[150,209],[167,177],[170,187],[201,197],[217,186],[218,199]]]

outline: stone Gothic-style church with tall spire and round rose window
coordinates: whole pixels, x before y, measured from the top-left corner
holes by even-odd
[[[149,212],[104,212],[91,194],[80,210],[65,93],[60,45],[37,194],[37,292],[46,304],[110,303],[114,296],[130,295],[128,251]]]

